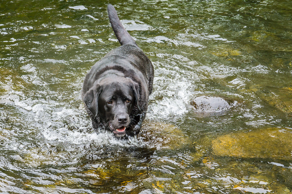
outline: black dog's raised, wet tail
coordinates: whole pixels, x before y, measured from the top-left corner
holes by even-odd
[[[137,46],[135,40],[131,37],[131,35],[126,31],[120,22],[116,9],[110,3],[107,5],[107,13],[109,15],[109,22],[112,24],[112,29],[114,30],[114,34],[116,35],[121,45],[130,44]]]

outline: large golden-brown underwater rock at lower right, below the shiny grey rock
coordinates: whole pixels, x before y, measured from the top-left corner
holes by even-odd
[[[220,136],[212,141],[212,148],[219,156],[291,160],[291,144],[291,129],[268,128]]]

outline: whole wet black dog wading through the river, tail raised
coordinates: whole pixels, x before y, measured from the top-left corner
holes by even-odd
[[[134,136],[146,115],[154,70],[111,4],[107,12],[121,46],[93,65],[84,79],[82,97],[93,128],[110,129],[117,137]]]

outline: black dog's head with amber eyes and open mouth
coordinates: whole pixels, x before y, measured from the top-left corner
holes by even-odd
[[[132,113],[139,113],[139,85],[125,77],[105,78],[95,81],[84,95],[84,102],[99,118],[101,124],[117,137],[126,135],[134,123]]]

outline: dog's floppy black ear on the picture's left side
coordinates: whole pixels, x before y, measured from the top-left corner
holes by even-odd
[[[92,112],[94,118],[97,117],[98,113],[98,99],[102,92],[102,88],[98,83],[95,83],[90,90],[84,95],[84,102],[88,109]]]

